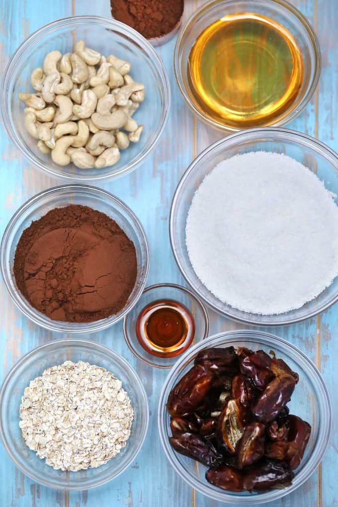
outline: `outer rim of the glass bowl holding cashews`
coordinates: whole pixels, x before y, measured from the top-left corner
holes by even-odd
[[[45,35],[55,31],[59,28],[67,28],[71,27],[72,25],[81,25],[86,23],[93,23],[93,24],[105,24],[109,25],[110,29],[114,29],[115,31],[118,31],[119,33],[124,33],[128,35],[128,37],[134,42],[136,41],[141,48],[146,47],[147,51],[151,55],[151,58],[156,62],[156,66],[158,69],[158,74],[161,78],[161,85],[163,89],[163,97],[164,97],[164,105],[162,108],[162,115],[163,115],[163,121],[162,124],[158,128],[158,133],[154,139],[154,142],[147,148],[147,150],[144,151],[143,154],[139,154],[133,162],[127,163],[125,166],[123,166],[119,171],[112,172],[105,175],[100,175],[100,172],[98,172],[95,175],[86,176],[86,175],[71,175],[66,173],[58,173],[56,172],[52,167],[49,167],[48,164],[42,163],[37,157],[33,155],[33,152],[26,148],[26,145],[19,140],[19,137],[16,134],[16,131],[14,128],[12,128],[9,113],[8,113],[8,107],[7,107],[7,90],[10,86],[12,75],[16,67],[17,60],[19,58],[22,58],[24,56],[24,53],[27,49],[29,49],[33,44],[35,44],[37,41],[42,39]],[[124,176],[125,174],[128,174],[132,172],[136,167],[138,167],[145,158],[153,151],[153,149],[158,144],[161,135],[163,133],[163,130],[166,126],[169,112],[170,112],[170,102],[171,102],[171,91],[170,91],[170,84],[169,84],[169,78],[167,75],[167,71],[165,69],[164,63],[158,53],[155,51],[154,47],[151,43],[149,43],[139,32],[131,28],[130,26],[121,23],[120,21],[117,21],[114,18],[106,18],[103,16],[68,16],[65,18],[59,18],[54,21],[51,21],[50,23],[47,23],[46,25],[42,26],[41,28],[38,28],[33,33],[31,33],[15,50],[15,52],[10,57],[10,60],[8,64],[6,65],[2,80],[1,80],[1,92],[0,92],[0,112],[3,119],[3,123],[6,129],[7,134],[9,135],[10,139],[14,143],[15,147],[23,154],[23,156],[31,163],[34,167],[39,169],[41,172],[48,174],[50,177],[53,177],[54,179],[58,179],[64,182],[68,183],[104,183],[111,179],[118,179],[121,176]],[[19,99],[18,99],[19,100]],[[114,168],[114,166],[110,166],[111,168]]]

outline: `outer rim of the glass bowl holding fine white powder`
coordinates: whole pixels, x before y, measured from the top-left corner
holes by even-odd
[[[325,143],[323,143],[322,141],[319,141],[315,137],[311,137],[310,135],[304,134],[303,132],[297,132],[295,130],[280,128],[280,127],[257,127],[257,128],[242,130],[239,132],[234,132],[232,134],[229,134],[228,136],[222,137],[218,141],[213,142],[190,163],[190,165],[184,171],[183,175],[181,176],[181,179],[178,182],[178,185],[176,187],[176,190],[175,190],[172,202],[171,202],[170,214],[169,214],[169,239],[170,239],[170,245],[171,245],[171,249],[173,252],[173,256],[174,256],[175,262],[178,266],[178,269],[180,270],[181,274],[183,275],[185,281],[193,289],[193,291],[199,295],[199,297],[204,301],[204,303],[209,308],[211,308],[212,310],[214,310],[215,312],[217,312],[218,314],[220,314],[222,316],[228,317],[228,318],[234,320],[235,322],[241,322],[241,323],[250,324],[250,325],[254,325],[254,326],[266,325],[269,327],[277,326],[277,325],[295,324],[297,322],[301,322],[303,320],[314,317],[314,316],[318,315],[319,313],[324,312],[325,310],[330,308],[334,303],[336,303],[338,301],[338,291],[337,291],[336,295],[333,296],[328,303],[326,303],[325,305],[322,305],[318,310],[312,310],[312,311],[309,311],[304,316],[289,318],[288,320],[280,320],[280,315],[286,315],[288,312],[281,313],[281,314],[274,314],[273,321],[264,320],[265,315],[261,315],[260,320],[257,321],[257,319],[247,318],[245,316],[243,316],[243,317],[240,317],[238,315],[235,316],[235,315],[233,315],[233,313],[231,311],[220,310],[213,303],[211,303],[207,297],[203,296],[203,294],[201,294],[198,291],[198,289],[195,287],[195,284],[190,280],[189,275],[184,271],[184,269],[182,267],[179,255],[177,253],[176,243],[174,240],[174,236],[175,236],[174,235],[174,230],[175,230],[174,216],[175,216],[175,211],[176,211],[175,208],[176,208],[176,204],[177,204],[177,200],[178,200],[178,195],[182,191],[184,191],[184,185],[185,185],[186,180],[189,178],[190,174],[194,172],[195,166],[197,164],[199,164],[199,162],[203,159],[203,157],[205,155],[208,155],[214,149],[218,148],[221,144],[224,144],[224,147],[226,147],[227,143],[232,142],[234,139],[237,139],[237,138],[238,138],[238,145],[239,145],[242,141],[242,138],[245,138],[245,139],[250,138],[250,140],[253,140],[256,137],[264,136],[267,134],[272,135],[274,133],[275,134],[283,134],[285,137],[292,139],[293,141],[301,142],[304,146],[308,146],[315,151],[322,150],[324,152],[326,158],[332,164],[333,168],[336,170],[336,172],[338,174],[338,154],[335,153],[331,148],[329,148]],[[334,163],[335,163],[335,165],[334,165]],[[235,310],[240,311],[238,309],[235,309]],[[241,313],[243,315],[245,315],[245,312],[241,312]],[[251,315],[257,316],[258,314],[251,314]],[[271,315],[269,315],[269,316],[271,317]]]

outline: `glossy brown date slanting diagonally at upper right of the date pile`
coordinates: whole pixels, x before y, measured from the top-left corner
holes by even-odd
[[[292,375],[275,377],[253,406],[253,415],[261,422],[271,422],[290,400],[294,386],[295,379]]]

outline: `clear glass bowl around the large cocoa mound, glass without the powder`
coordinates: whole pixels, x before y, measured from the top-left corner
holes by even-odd
[[[33,308],[16,286],[13,263],[16,246],[24,229],[51,209],[68,204],[84,204],[110,216],[134,243],[137,259],[136,283],[126,306],[115,315],[93,322],[52,320]],[[45,190],[23,204],[10,220],[0,247],[0,263],[7,291],[17,307],[35,324],[62,333],[94,333],[115,324],[136,304],[141,296],[149,271],[149,247],[143,228],[132,210],[108,192],[86,185],[64,185]]]

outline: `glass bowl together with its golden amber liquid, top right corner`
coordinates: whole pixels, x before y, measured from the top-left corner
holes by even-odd
[[[280,126],[318,84],[314,29],[285,0],[212,0],[181,28],[175,75],[187,105],[218,130]]]

